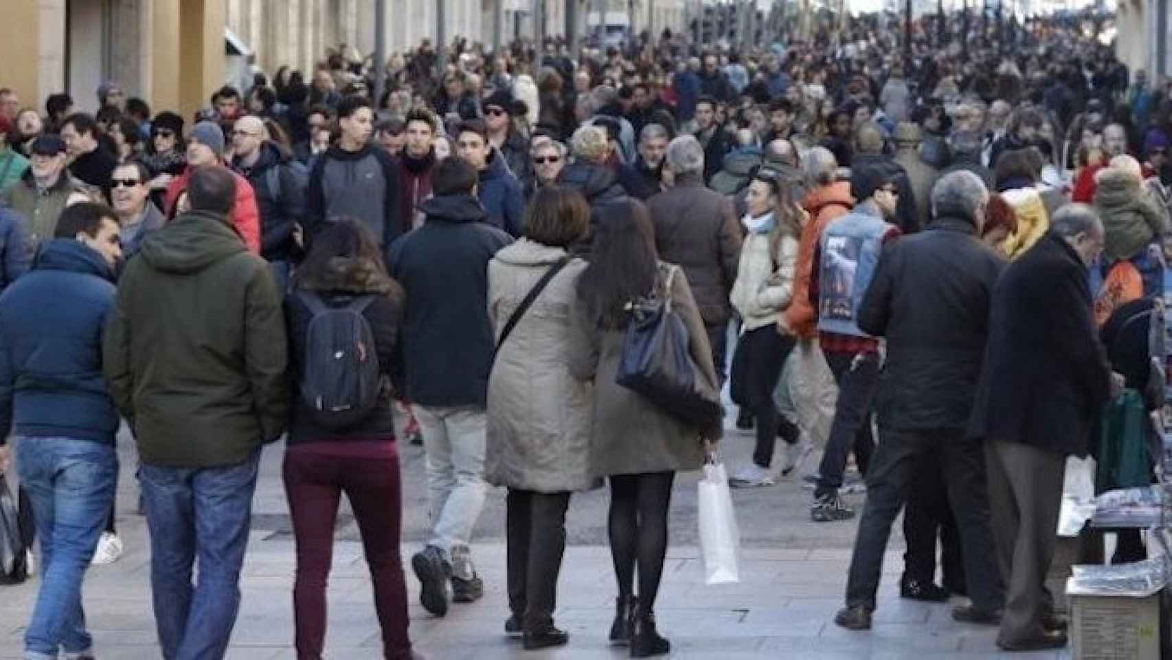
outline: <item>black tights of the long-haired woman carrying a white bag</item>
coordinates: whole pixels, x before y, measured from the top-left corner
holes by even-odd
[[[643,617],[655,605],[663,558],[667,556],[667,511],[675,472],[645,472],[611,477],[611,559],[619,597],[629,598],[639,564],[639,607]]]

